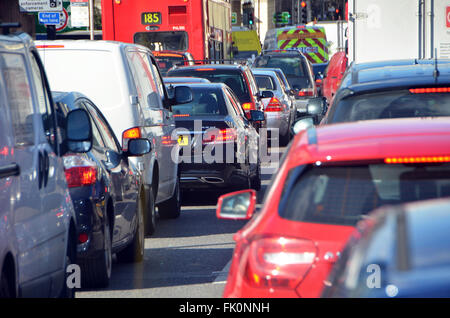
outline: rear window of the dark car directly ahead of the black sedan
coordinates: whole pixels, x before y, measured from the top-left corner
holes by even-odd
[[[233,92],[241,103],[250,102],[250,92],[243,74],[238,70],[221,70],[221,69],[177,69],[170,71],[167,76],[193,76],[206,78],[212,83],[225,83]]]

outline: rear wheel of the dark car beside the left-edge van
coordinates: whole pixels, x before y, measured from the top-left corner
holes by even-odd
[[[81,283],[83,287],[103,288],[109,285],[112,271],[112,242],[109,218],[105,217],[103,225],[103,251],[95,259],[80,261],[82,271]]]

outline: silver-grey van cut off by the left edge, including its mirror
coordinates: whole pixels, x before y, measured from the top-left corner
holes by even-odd
[[[81,109],[64,121],[31,37],[0,35],[0,298],[74,296],[76,217],[62,156],[89,151],[92,127]]]

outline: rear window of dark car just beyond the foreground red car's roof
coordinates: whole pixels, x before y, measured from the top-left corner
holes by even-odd
[[[450,116],[450,94],[396,90],[350,96],[331,107],[328,123],[426,116]]]

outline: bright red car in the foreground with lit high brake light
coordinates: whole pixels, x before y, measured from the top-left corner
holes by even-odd
[[[371,210],[450,195],[450,118],[325,125],[298,133],[261,211],[235,234],[224,297],[319,297],[357,222]],[[219,198],[249,219],[256,192]]]

